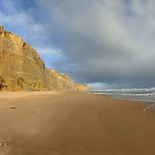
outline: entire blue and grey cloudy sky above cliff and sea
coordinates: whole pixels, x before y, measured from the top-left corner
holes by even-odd
[[[0,0],[0,24],[92,89],[155,86],[154,0]]]

